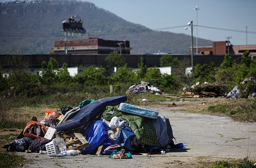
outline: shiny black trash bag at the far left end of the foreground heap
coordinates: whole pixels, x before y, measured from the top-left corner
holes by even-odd
[[[29,144],[31,143],[32,139],[29,137],[23,137],[20,139],[14,140],[10,146],[5,150],[7,152],[25,152],[28,150]]]

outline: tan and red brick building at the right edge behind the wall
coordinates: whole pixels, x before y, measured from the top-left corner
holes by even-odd
[[[228,41],[213,41],[212,46],[198,47],[198,53],[201,55],[242,55],[246,50],[253,56],[256,55],[256,45],[229,45]],[[195,47],[193,51],[196,52]]]

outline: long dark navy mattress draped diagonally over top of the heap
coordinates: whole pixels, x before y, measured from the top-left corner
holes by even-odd
[[[96,117],[103,108],[106,108],[107,106],[115,106],[125,101],[127,101],[125,95],[101,98],[84,106],[70,121],[56,126],[55,129],[57,132],[60,132],[79,128],[90,121],[93,117]]]

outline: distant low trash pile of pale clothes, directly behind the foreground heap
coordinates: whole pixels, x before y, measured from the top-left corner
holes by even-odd
[[[129,87],[126,93],[132,94],[143,94],[145,92],[150,92],[152,94],[163,94],[157,87],[154,87],[148,82],[139,82]]]

